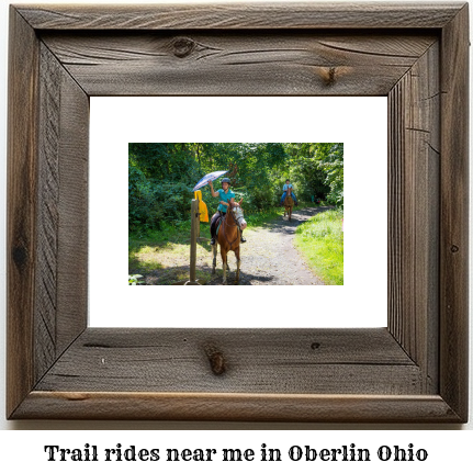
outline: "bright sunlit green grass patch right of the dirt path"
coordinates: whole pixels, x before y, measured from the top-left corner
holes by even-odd
[[[344,233],[339,211],[326,211],[300,225],[295,246],[326,284],[344,284]]]

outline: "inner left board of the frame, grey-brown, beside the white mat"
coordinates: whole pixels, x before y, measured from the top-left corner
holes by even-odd
[[[88,97],[41,44],[35,379],[87,326]]]

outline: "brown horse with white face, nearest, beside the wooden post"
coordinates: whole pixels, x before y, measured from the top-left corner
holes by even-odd
[[[222,266],[224,270],[224,284],[227,283],[227,270],[229,271],[227,255],[228,251],[234,251],[237,259],[237,271],[235,275],[235,283],[239,281],[240,257],[239,244],[241,232],[246,228],[247,223],[243,216],[243,209],[240,206],[243,199],[238,203],[230,203],[226,215],[221,221],[218,235],[215,238],[215,245],[212,247],[213,252],[213,269],[212,274],[215,274],[215,267],[217,264],[217,249],[221,246]]]

